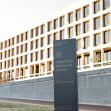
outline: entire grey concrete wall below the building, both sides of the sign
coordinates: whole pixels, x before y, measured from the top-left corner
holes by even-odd
[[[7,83],[0,86],[0,97],[54,100],[53,77]],[[111,69],[78,73],[80,104],[111,106]]]

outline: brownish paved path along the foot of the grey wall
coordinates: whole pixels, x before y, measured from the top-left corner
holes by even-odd
[[[1,106],[2,106],[2,103],[9,104],[9,106],[10,106],[10,104],[12,104],[11,106],[13,106],[14,104],[17,104],[17,106],[45,107],[45,108],[50,108],[50,111],[53,111],[53,102],[0,98]],[[9,109],[7,110],[7,109],[2,109],[2,108],[6,108],[6,107],[0,107],[0,111],[10,111]],[[13,111],[16,111],[16,110],[13,109]],[[79,111],[111,111],[111,107],[96,106],[96,105],[79,105]]]

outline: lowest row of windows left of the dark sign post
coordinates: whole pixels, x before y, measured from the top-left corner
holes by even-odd
[[[46,67],[47,66],[47,67]],[[47,72],[45,72],[45,69]],[[0,78],[5,81],[17,80],[30,77],[44,76],[45,74],[51,74],[52,62],[47,61],[47,63],[40,63],[30,66],[30,75],[28,67],[20,67],[14,70],[7,70],[0,73]]]

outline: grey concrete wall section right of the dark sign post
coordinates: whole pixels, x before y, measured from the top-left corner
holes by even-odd
[[[111,68],[78,73],[79,102],[111,106]]]

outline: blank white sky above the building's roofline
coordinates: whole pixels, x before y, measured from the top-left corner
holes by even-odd
[[[0,41],[32,28],[77,0],[0,0]]]

